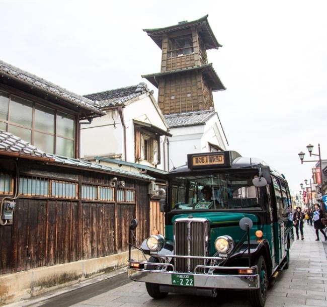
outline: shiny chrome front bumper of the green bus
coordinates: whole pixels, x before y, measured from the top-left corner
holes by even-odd
[[[243,268],[239,268],[243,269]],[[181,273],[174,271],[146,270],[128,268],[128,278],[135,281],[157,283],[161,285],[172,285],[172,274],[187,274],[194,278],[193,288],[217,288],[217,289],[258,289],[260,287],[260,277],[258,274],[251,275],[225,275],[225,274],[201,274],[201,273]],[[192,287],[190,287],[192,288]]]

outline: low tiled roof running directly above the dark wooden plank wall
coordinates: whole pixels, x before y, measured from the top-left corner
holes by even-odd
[[[32,159],[34,157],[44,158],[47,159],[48,161],[50,160],[50,162],[53,162],[54,164],[70,165],[74,167],[87,168],[94,171],[96,170],[107,171],[110,173],[120,174],[122,176],[136,177],[136,178],[151,180],[151,181],[155,180],[153,177],[148,176],[146,174],[127,172],[124,170],[119,170],[108,166],[102,166],[99,164],[90,163],[84,160],[47,154],[46,152],[38,149],[37,147],[31,145],[30,143],[22,140],[20,137],[12,133],[6,132],[4,130],[0,130],[0,156],[1,155],[5,155],[5,156],[17,155],[18,157],[22,157],[26,159],[28,158]]]

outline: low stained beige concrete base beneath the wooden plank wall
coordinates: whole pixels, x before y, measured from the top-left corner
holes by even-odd
[[[144,260],[138,250],[132,258]],[[128,252],[0,275],[0,305],[63,288],[127,266]]]

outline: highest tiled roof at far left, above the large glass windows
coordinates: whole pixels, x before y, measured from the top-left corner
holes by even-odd
[[[98,115],[104,115],[99,106],[92,100],[89,100],[83,96],[69,92],[64,88],[61,88],[49,81],[46,81],[38,76],[22,70],[14,65],[8,64],[0,60],[0,75],[9,76],[9,78],[19,80],[26,84],[32,85],[33,87],[39,88],[40,90],[49,93],[53,96],[58,96],[63,100],[66,100],[80,108],[84,108],[97,113]]]

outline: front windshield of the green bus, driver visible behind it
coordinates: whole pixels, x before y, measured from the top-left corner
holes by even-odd
[[[258,173],[219,173],[173,179],[172,210],[260,208],[263,188],[253,185]]]

